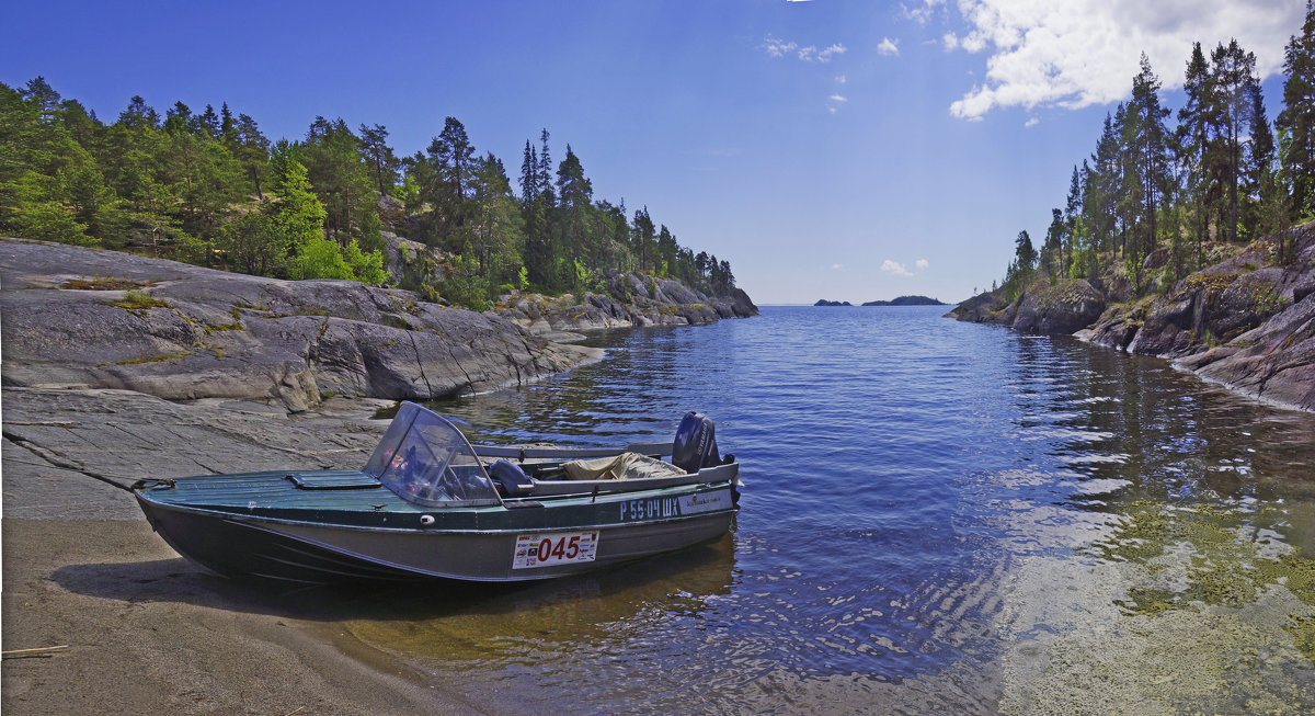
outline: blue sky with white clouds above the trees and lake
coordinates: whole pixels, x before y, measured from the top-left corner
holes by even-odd
[[[272,138],[317,115],[400,154],[454,116],[515,174],[569,143],[759,303],[961,300],[1039,240],[1145,51],[1177,108],[1193,41],[1237,37],[1279,105],[1301,0],[62,3],[0,8],[0,82],[113,121],[227,101]]]

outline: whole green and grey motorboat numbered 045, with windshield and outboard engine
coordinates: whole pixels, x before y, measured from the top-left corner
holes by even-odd
[[[739,505],[739,463],[693,412],[672,442],[476,446],[401,403],[360,470],[153,478],[132,490],[170,546],[225,576],[523,582],[715,540]]]

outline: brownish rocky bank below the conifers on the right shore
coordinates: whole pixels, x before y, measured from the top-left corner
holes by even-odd
[[[1293,229],[1295,259],[1261,240],[1159,295],[1128,300],[1085,279],[1038,279],[1015,300],[986,292],[947,317],[1084,341],[1172,361],[1262,400],[1315,412],[1315,224]],[[1155,270],[1148,257],[1147,270]],[[1112,283],[1112,282],[1110,282]],[[1122,299],[1122,301],[1119,300]]]

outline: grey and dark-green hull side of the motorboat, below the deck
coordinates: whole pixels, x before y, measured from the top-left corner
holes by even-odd
[[[727,490],[727,504],[729,490]],[[706,494],[706,492],[705,492]],[[154,529],[201,567],[225,576],[299,583],[360,580],[525,582],[568,576],[714,540],[734,511],[569,528],[409,529],[276,520],[155,501],[138,495]],[[515,512],[515,511],[509,511]],[[593,534],[593,558],[529,566],[540,537]],[[522,555],[517,558],[517,550]]]

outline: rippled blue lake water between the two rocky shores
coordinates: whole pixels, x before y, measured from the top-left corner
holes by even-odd
[[[943,311],[613,332],[600,363],[437,404],[567,445],[702,411],[740,512],[706,546],[389,592],[346,628],[492,711],[1315,711],[1315,416]]]

